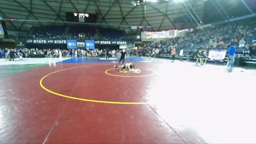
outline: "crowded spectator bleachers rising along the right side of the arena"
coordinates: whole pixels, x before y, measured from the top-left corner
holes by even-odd
[[[245,45],[243,47],[238,47],[239,41],[244,38]],[[160,49],[159,57],[170,58],[170,47],[176,46],[176,58],[179,58],[179,51],[181,48],[184,49],[184,58],[186,59],[189,51],[195,51],[195,49],[226,49],[230,42],[236,42],[236,54],[239,58],[243,58],[243,51],[246,47],[250,47],[252,51],[252,58],[244,57],[244,64],[250,63],[250,65],[256,65],[256,22],[246,23],[246,24],[225,24],[221,26],[216,26],[214,28],[207,29],[196,29],[192,33],[187,33],[184,36],[177,38],[172,38],[162,42],[154,42],[147,44],[142,47],[141,51],[145,51],[145,55],[148,56],[148,52],[153,49]],[[161,46],[159,46],[161,45]],[[225,62],[226,60],[224,60]]]

